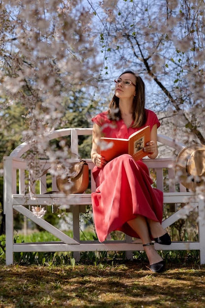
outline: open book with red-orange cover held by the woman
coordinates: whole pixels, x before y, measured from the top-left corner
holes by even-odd
[[[146,126],[129,136],[129,139],[122,138],[100,138],[100,154],[107,161],[122,155],[130,154],[137,161],[147,155],[143,151],[146,143],[150,141],[150,126]]]

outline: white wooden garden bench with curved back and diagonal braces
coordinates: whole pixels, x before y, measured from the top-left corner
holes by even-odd
[[[70,150],[73,154],[78,155],[78,138],[80,135],[91,135],[91,128],[67,128],[59,129],[47,136],[52,140],[58,137],[70,135]],[[39,137],[40,138],[40,137]],[[171,147],[179,152],[183,145],[176,143],[174,140],[158,135],[158,142]],[[4,157],[4,213],[6,219],[6,264],[13,263],[14,252],[29,251],[73,251],[74,257],[79,259],[81,251],[126,251],[127,257],[132,258],[132,251],[143,250],[142,244],[133,244],[132,238],[125,236],[123,241],[80,241],[79,214],[85,211],[85,205],[91,204],[90,193],[71,194],[67,198],[62,193],[46,193],[46,175],[40,179],[40,193],[25,194],[26,180],[25,171],[28,171],[27,161],[22,155],[29,150],[29,144],[23,143],[18,146],[10,156]],[[82,157],[83,158],[83,157]],[[86,159],[89,169],[92,170],[93,163],[91,159]],[[197,211],[198,235],[197,242],[172,242],[171,246],[155,244],[158,250],[200,250],[201,264],[205,264],[205,201],[193,192],[187,192],[186,188],[177,183],[175,179],[175,159],[156,158],[144,159],[147,167],[155,171],[157,188],[164,192],[164,205],[172,204],[176,206],[176,212],[163,220],[163,227],[172,225],[180,218],[184,218],[191,211]],[[50,160],[41,159],[40,166],[42,171],[49,168]],[[165,185],[164,172],[167,170],[168,182]],[[166,186],[166,189],[165,189]],[[17,188],[18,187],[18,188]],[[53,177],[52,190],[56,191],[56,179]],[[165,191],[166,190],[166,191]],[[91,175],[91,191],[95,191],[95,183]],[[53,206],[67,204],[69,211],[73,215],[73,238],[67,236],[62,231],[45,221],[43,218],[36,217],[30,210],[31,206]],[[41,242],[41,243],[14,243],[13,240],[13,211],[21,213],[33,222],[55,235],[58,242]]]

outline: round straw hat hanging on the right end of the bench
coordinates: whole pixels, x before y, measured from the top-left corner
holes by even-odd
[[[195,144],[184,148],[176,158],[176,175],[180,183],[189,190],[196,191],[201,186],[205,190],[205,146]]]

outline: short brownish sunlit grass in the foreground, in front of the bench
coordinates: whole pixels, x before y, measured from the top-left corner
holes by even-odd
[[[0,308],[202,308],[205,266],[138,261],[65,266],[0,265]]]

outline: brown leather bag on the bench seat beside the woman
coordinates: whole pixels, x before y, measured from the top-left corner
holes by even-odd
[[[58,173],[62,170],[62,175],[65,168],[59,164]],[[62,175],[57,176],[56,184],[59,191],[66,194],[70,193],[83,193],[89,185],[89,170],[88,163],[85,160],[70,163],[69,174],[65,177]]]

